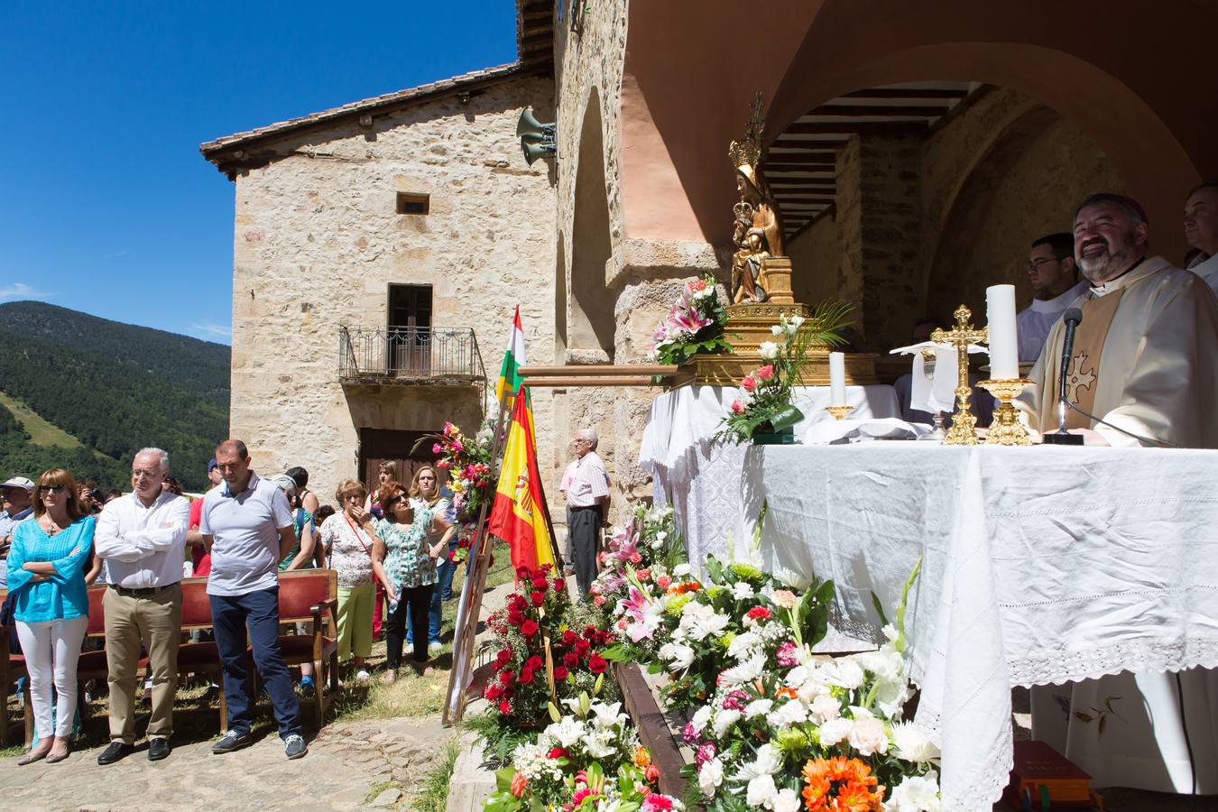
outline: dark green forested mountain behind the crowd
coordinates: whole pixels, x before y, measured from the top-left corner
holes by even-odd
[[[0,474],[62,466],[129,488],[132,457],[156,446],[184,487],[202,491],[228,435],[229,363],[224,345],[43,302],[0,304],[0,391],[84,446],[33,446],[0,407]]]

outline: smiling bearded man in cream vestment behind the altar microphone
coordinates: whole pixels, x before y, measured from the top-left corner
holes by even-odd
[[[1074,254],[1091,287],[1077,306],[1067,398],[1118,429],[1067,411],[1066,425],[1090,444],[1218,448],[1218,301],[1197,276],[1147,256],[1142,208],[1119,195],[1093,195],[1074,215]],[[1016,402],[1033,429],[1057,427],[1065,324],[1049,340]]]

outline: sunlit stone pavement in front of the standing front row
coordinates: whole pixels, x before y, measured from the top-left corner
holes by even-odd
[[[436,717],[331,724],[297,761],[284,757],[272,733],[238,752],[217,756],[211,740],[180,744],[150,763],[141,747],[108,767],[100,747],[73,752],[57,765],[0,762],[0,808],[6,810],[353,810],[368,802],[395,806],[400,790],[378,784],[421,783],[453,735]]]

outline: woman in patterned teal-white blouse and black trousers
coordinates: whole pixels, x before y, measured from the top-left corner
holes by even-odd
[[[415,640],[428,639],[428,610],[435,588],[437,548],[428,545],[434,527],[447,527],[443,517],[423,504],[412,504],[406,486],[386,482],[380,487],[385,519],[376,522],[373,569],[385,586],[389,614],[385,616],[385,682],[397,678],[402,665],[402,642],[409,614]],[[415,668],[423,673],[428,661],[426,644],[413,649]]]

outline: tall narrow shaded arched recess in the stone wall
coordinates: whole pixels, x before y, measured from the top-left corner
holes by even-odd
[[[613,256],[613,245],[602,121],[600,94],[593,88],[577,147],[566,319],[568,355],[591,354],[585,362],[611,362],[614,352],[613,298],[605,286],[605,263]]]

